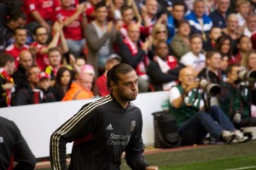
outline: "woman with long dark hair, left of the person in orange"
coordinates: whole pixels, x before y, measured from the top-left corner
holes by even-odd
[[[67,67],[61,67],[57,72],[55,77],[55,85],[53,87],[56,101],[61,101],[69,90],[72,82],[73,72],[67,69]]]

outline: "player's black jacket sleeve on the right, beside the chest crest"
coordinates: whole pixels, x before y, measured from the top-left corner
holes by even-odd
[[[138,122],[136,133],[131,136],[131,140],[125,149],[125,160],[131,169],[144,170],[149,167],[143,156],[144,145],[142,139],[143,120]]]

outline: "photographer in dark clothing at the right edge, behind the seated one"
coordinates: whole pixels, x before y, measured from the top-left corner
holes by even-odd
[[[251,117],[251,105],[256,104],[256,99],[252,97],[256,94],[255,81],[250,85],[251,82],[241,80],[241,71],[241,65],[238,64],[228,67],[227,82],[221,84],[222,91],[218,95],[220,107],[237,128],[256,126],[256,118]]]

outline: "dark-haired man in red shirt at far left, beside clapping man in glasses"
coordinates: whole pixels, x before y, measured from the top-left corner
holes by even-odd
[[[28,45],[26,45],[26,29],[17,27],[14,37],[15,42],[5,49],[5,53],[11,54],[15,58],[15,67],[17,68],[19,65],[20,52],[29,48]]]

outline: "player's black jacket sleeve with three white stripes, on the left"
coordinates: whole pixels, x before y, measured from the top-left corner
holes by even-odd
[[[66,144],[91,133],[99,124],[99,117],[96,117],[96,109],[93,109],[93,106],[93,103],[84,105],[76,115],[51,135],[49,157],[53,169],[66,170]]]

